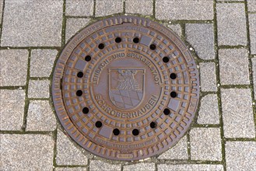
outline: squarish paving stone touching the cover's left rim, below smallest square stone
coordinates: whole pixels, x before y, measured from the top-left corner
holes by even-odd
[[[31,100],[26,117],[26,131],[54,131],[56,119],[47,100]]]

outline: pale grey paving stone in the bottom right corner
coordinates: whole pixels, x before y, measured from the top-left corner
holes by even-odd
[[[225,152],[226,170],[255,170],[255,141],[227,141]]]

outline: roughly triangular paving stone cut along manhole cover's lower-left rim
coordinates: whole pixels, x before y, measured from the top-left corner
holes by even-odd
[[[86,165],[87,157],[72,144],[68,137],[58,130],[57,134],[57,156],[58,165]]]

